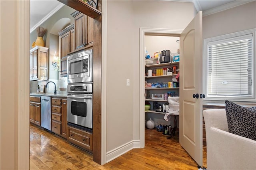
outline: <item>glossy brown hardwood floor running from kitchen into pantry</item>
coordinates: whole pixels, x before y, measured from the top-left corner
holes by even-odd
[[[206,167],[206,150],[203,151]],[[180,146],[178,135],[166,139],[156,129],[145,129],[145,148],[132,149],[101,166],[92,155],[61,137],[30,124],[31,170],[198,170],[196,162]]]

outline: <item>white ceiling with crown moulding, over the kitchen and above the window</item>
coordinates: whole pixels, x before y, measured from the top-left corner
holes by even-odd
[[[167,0],[194,3],[197,11],[202,10],[203,16],[220,12],[252,0]],[[30,32],[35,30],[64,4],[57,0],[30,0]]]

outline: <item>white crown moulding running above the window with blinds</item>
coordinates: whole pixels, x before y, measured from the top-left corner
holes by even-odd
[[[217,13],[217,12],[228,10],[230,8],[234,8],[236,6],[240,6],[240,5],[252,2],[252,1],[253,0],[249,0],[249,1],[247,1],[247,0],[246,1],[243,1],[243,0],[240,1],[239,0],[239,1],[230,2],[228,4],[223,4],[221,6],[217,6],[216,8],[212,8],[212,9],[203,11],[203,16],[207,16],[207,15],[210,15],[210,14],[214,14],[214,13]]]

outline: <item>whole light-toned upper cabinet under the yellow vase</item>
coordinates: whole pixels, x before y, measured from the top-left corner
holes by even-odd
[[[36,46],[30,50],[30,80],[48,80],[49,48]]]

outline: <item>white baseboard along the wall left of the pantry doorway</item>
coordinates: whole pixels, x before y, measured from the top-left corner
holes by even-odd
[[[134,148],[140,148],[140,140],[132,140],[130,142],[127,142],[126,144],[123,144],[122,146],[108,151],[106,156],[106,162],[108,163]]]

